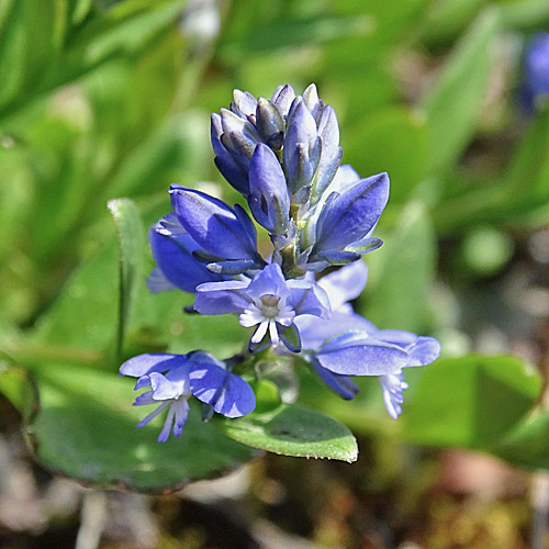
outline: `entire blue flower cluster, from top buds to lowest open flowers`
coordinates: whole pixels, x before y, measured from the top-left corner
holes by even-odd
[[[212,115],[211,138],[215,165],[251,216],[239,204],[171,186],[173,211],[149,233],[157,264],[150,291],[193,293],[203,315],[237,314],[253,328],[248,352],[272,346],[300,354],[344,399],[357,394],[354,377],[378,377],[396,418],[403,368],[433,362],[440,347],[432,337],[380,330],[349,304],[366,284],[362,255],[382,244],[372,232],[389,199],[386,173],[361,179],[340,166],[337,117],[314,85],[301,96],[280,86],[271,99],[236,90],[231,108]],[[256,226],[269,235],[268,256],[258,250]],[[228,417],[255,406],[229,362],[201,351],[142,355],[121,373],[149,389],[136,405],[159,403],[139,426],[169,408],[159,440],[173,422],[173,434],[181,433],[190,395]]]

